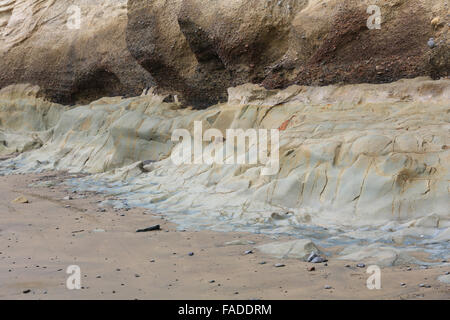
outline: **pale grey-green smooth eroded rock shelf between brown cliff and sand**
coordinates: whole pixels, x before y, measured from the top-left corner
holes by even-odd
[[[158,95],[66,108],[37,92],[0,91],[3,144],[32,133],[42,145],[2,161],[2,174],[90,172],[74,187],[113,193],[118,200],[108,204],[148,207],[182,227],[288,233],[319,245],[370,239],[422,246],[436,257],[450,252],[449,80],[281,91],[246,84],[206,110],[180,109]],[[170,156],[181,144],[171,135],[181,128],[193,133],[194,121],[222,132],[279,129],[279,170],[262,175],[261,163],[175,165]],[[396,250],[380,252],[380,259],[406,261]]]

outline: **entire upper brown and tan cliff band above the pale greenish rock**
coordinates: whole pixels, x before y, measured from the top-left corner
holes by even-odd
[[[1,0],[0,87],[37,84],[53,101],[76,103],[157,85],[206,107],[246,82],[281,88],[448,76],[446,1],[376,1],[381,29],[367,27],[370,4]],[[67,27],[71,5],[81,8],[80,29]]]

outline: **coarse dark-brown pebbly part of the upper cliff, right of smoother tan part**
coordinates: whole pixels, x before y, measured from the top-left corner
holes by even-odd
[[[127,41],[158,85],[197,107],[245,82],[272,89],[448,76],[445,3],[378,1],[379,30],[367,27],[372,4],[130,0]],[[437,47],[427,46],[430,37]]]

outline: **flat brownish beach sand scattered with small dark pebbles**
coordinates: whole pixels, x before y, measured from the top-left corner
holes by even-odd
[[[254,245],[224,245],[236,239],[274,241],[269,236],[177,230],[144,209],[100,212],[101,194],[29,187],[64,176],[0,177],[0,299],[450,298],[450,286],[437,280],[448,267],[383,268],[382,288],[369,290],[369,274],[355,262],[331,258],[328,266],[315,264],[316,270],[309,272],[311,264],[299,260],[280,261],[256,250],[245,255]],[[63,200],[68,195],[73,199]],[[29,203],[13,203],[19,196]],[[154,224],[162,230],[135,232]],[[285,267],[276,268],[276,263]],[[66,288],[69,265],[81,268],[81,290]],[[421,283],[431,287],[419,287]]]

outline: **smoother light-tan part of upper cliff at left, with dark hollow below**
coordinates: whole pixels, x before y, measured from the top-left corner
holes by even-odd
[[[72,27],[80,8],[80,29]],[[65,104],[136,95],[152,78],[125,41],[126,0],[0,1],[0,87],[39,85]]]

